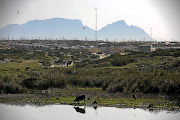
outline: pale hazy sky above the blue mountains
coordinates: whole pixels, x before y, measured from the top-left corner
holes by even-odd
[[[79,19],[98,30],[125,20],[156,40],[180,40],[180,0],[0,0],[0,28],[54,17]],[[19,14],[17,14],[19,11]]]

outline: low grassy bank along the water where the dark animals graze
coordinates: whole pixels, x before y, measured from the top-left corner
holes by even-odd
[[[137,100],[134,101],[132,94],[111,94],[99,88],[51,90],[51,93],[46,94],[41,91],[30,94],[1,94],[0,102],[84,105],[84,101],[74,102],[75,97],[82,94],[86,95],[85,104],[88,106],[94,106],[96,101],[98,106],[149,108],[149,105],[153,105],[151,108],[180,108],[179,102],[170,100],[168,96],[137,94]]]

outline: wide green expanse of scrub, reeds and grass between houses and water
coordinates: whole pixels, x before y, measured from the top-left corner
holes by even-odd
[[[96,58],[90,55],[73,67],[60,68],[49,67],[52,59],[58,58],[62,61],[67,58],[68,55],[62,55],[60,51],[0,51],[1,59],[10,59],[10,62],[0,63],[1,94],[36,94],[37,91],[40,93],[41,90],[56,89],[54,92],[62,90],[63,94],[58,93],[54,98],[51,96],[52,98],[48,97],[45,100],[72,103],[76,95],[91,93],[92,100],[97,97],[101,100],[99,105],[120,103],[126,106],[139,106],[148,99],[156,105],[153,102],[157,100],[154,96],[161,95],[166,98],[159,98],[157,106],[169,98],[180,105],[180,50],[160,50],[146,54],[132,52],[125,56],[116,54],[101,60],[90,60]],[[73,55],[71,57],[75,60],[78,56],[86,57],[79,53]],[[85,90],[81,90],[82,88]],[[81,92],[78,92],[79,90]],[[126,94],[129,96],[123,96]],[[153,97],[141,97],[134,102],[131,101],[132,94],[152,94]],[[109,96],[114,100],[110,100]],[[105,99],[109,99],[108,103]]]

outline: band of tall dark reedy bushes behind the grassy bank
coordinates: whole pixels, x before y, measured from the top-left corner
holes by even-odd
[[[0,91],[23,92],[26,89],[99,87],[116,93],[180,94],[178,70],[143,70],[119,68],[59,68],[26,71],[30,78],[0,76]]]

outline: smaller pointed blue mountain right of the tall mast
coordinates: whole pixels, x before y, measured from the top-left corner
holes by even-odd
[[[99,38],[101,39],[142,39],[150,40],[150,36],[141,28],[136,26],[128,26],[124,20],[108,24],[99,30]]]

